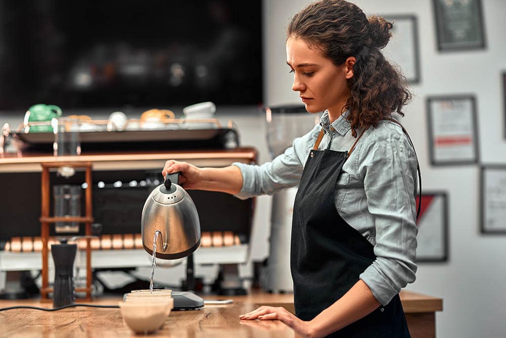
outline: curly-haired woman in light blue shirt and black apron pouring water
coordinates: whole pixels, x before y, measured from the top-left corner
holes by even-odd
[[[409,337],[399,291],[415,280],[417,160],[392,114],[410,99],[380,49],[390,22],[324,0],[293,17],[287,63],[319,125],[262,166],[197,168],[167,161],[186,189],[247,198],[299,184],[291,271],[296,315],[261,307],[244,320],[280,320],[304,336]]]

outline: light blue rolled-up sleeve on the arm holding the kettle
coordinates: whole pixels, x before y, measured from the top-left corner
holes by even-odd
[[[314,143],[320,130],[321,127],[317,125],[306,135],[296,138],[292,146],[272,162],[260,166],[234,162],[232,165],[239,167],[243,181],[242,189],[235,197],[246,199],[272,195],[281,189],[298,185],[309,152],[308,144]]]

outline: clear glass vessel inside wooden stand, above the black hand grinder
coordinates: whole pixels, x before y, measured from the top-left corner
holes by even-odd
[[[55,217],[79,217],[81,215],[81,186],[59,184],[53,186]],[[57,233],[79,232],[79,222],[56,222]]]

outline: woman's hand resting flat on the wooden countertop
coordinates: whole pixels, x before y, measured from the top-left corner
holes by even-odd
[[[316,337],[315,330],[313,329],[311,322],[306,322],[297,318],[291,312],[282,307],[274,308],[270,306],[261,306],[257,310],[240,315],[239,318],[244,320],[279,320],[304,337]]]

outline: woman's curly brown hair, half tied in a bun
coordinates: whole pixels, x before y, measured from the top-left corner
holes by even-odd
[[[366,130],[393,112],[404,116],[402,107],[411,100],[407,81],[380,51],[387,46],[392,23],[382,17],[367,19],[362,10],[344,0],[322,0],[296,14],[287,28],[287,38],[304,40],[319,49],[335,65],[356,58],[348,80],[350,96],[343,110],[352,135]]]

